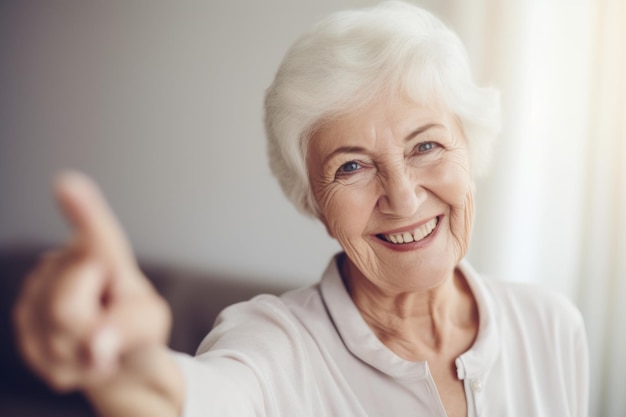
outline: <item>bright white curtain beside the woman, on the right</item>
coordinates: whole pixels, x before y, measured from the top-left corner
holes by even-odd
[[[433,3],[502,92],[470,259],[569,296],[585,319],[589,415],[626,415],[626,1]]]

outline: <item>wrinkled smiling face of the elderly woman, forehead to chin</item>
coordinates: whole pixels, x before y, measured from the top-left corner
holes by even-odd
[[[473,182],[448,111],[381,100],[320,128],[307,165],[328,233],[379,288],[435,287],[465,256]]]

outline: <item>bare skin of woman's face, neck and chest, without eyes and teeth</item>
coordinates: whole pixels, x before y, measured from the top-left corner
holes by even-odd
[[[420,131],[427,125],[434,127]],[[423,151],[426,142],[435,146]],[[343,171],[348,162],[358,165]],[[403,98],[374,102],[317,130],[307,166],[320,220],[347,255],[342,275],[363,318],[400,357],[428,361],[444,404],[463,412],[454,360],[474,342],[478,310],[456,270],[473,220],[458,119]],[[437,234],[426,246],[401,252],[378,237],[435,216]]]

